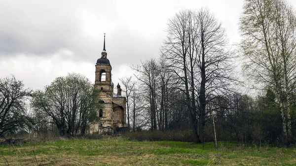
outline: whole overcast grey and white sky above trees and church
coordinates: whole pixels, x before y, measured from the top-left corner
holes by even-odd
[[[289,0],[296,6],[296,0]],[[42,89],[68,72],[94,83],[104,33],[112,80],[129,66],[158,58],[167,20],[182,9],[208,7],[238,43],[243,0],[0,0],[0,77],[14,74]]]

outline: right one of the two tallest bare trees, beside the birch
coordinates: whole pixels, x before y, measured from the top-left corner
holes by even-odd
[[[206,104],[209,95],[223,95],[236,81],[233,76],[234,56],[227,47],[227,38],[222,24],[207,9],[200,9],[197,52],[199,82],[199,132],[204,141]]]

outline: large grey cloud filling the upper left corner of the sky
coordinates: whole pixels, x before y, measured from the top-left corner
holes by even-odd
[[[31,3],[30,3],[31,2]],[[79,23],[70,7],[37,1],[0,2],[0,53],[47,55],[70,47]]]

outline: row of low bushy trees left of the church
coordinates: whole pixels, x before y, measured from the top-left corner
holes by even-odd
[[[21,131],[85,135],[98,120],[99,91],[83,75],[57,77],[43,90],[25,89],[13,75],[0,79],[0,136]]]

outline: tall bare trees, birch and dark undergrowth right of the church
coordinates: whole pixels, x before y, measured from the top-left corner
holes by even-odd
[[[242,40],[234,51],[206,8],[169,19],[159,58],[132,66],[136,86],[130,77],[121,79],[130,83],[123,88],[129,103],[136,102],[128,116],[132,131],[190,129],[194,142],[215,135],[295,142],[295,10],[285,0],[245,0],[239,21]],[[243,64],[241,76],[236,61]],[[240,93],[248,86],[257,95]]]

